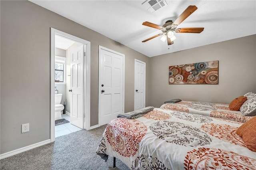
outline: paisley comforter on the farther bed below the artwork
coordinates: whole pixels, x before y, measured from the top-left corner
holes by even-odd
[[[227,119],[237,122],[246,122],[252,116],[242,116],[240,111],[230,111],[228,104],[222,103],[207,103],[200,101],[180,101],[178,103],[163,104],[161,109],[172,111],[182,111],[220,119]]]

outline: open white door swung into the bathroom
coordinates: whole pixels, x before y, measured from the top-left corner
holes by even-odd
[[[70,123],[83,128],[83,59],[84,45],[80,45],[70,56]]]

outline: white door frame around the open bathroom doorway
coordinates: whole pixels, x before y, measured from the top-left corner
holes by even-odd
[[[51,28],[51,72],[50,72],[50,79],[51,79],[51,85],[50,85],[50,140],[51,142],[55,141],[55,120],[54,120],[54,84],[55,84],[55,35],[61,36],[63,38],[72,40],[74,42],[81,43],[85,45],[85,53],[86,56],[84,58],[84,93],[83,93],[83,98],[84,98],[84,106],[83,106],[83,126],[86,130],[89,130],[90,128],[90,42],[78,38],[76,36],[72,36],[70,34],[67,34],[65,32],[56,30],[54,28]]]

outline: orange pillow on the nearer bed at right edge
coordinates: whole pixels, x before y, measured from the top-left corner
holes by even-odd
[[[256,152],[256,116],[240,126],[236,134],[243,138],[248,149]]]

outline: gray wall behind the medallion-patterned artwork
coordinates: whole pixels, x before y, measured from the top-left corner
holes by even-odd
[[[219,60],[218,85],[168,84],[171,65]],[[150,105],[180,98],[230,103],[247,92],[256,92],[256,35],[214,43],[150,58]]]

